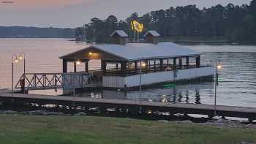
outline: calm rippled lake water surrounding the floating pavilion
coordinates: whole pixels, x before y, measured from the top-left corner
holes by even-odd
[[[12,53],[26,53],[26,72],[61,72],[59,56],[84,48],[86,43],[67,39],[0,39],[0,88],[11,88]],[[202,53],[202,63],[220,59],[223,69],[217,91],[217,105],[256,107],[256,46],[254,45],[185,45]],[[89,67],[97,69],[99,61]],[[69,66],[72,69],[72,66]],[[82,69],[82,67],[81,67]],[[23,72],[23,63],[15,64],[15,82]],[[54,91],[31,91],[34,94],[61,94]],[[89,91],[79,96],[105,99],[138,99],[138,91]],[[176,88],[143,90],[143,100],[214,104],[214,83],[191,83]]]

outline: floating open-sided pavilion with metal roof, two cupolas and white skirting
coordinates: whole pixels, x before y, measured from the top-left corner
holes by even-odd
[[[193,80],[213,77],[214,67],[200,64],[200,53],[173,42],[158,42],[157,31],[145,34],[145,43],[127,43],[128,34],[114,31],[113,44],[91,45],[69,53],[63,60],[63,72],[67,63],[85,63],[84,71],[99,77],[104,88],[132,88],[142,85]],[[101,69],[89,71],[89,61],[101,60]]]

